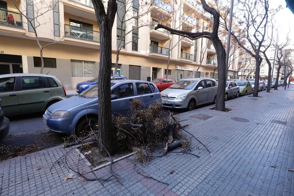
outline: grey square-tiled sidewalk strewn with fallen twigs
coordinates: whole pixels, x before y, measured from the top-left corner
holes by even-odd
[[[68,152],[57,146],[0,162],[0,195],[293,195],[294,85],[279,89],[259,93],[263,98],[229,100],[226,107],[235,109],[229,113],[207,106],[177,115],[213,157],[191,138],[192,153],[200,158],[172,153],[140,164],[130,157],[113,164],[122,185],[116,179],[78,182],[77,174],[64,182],[72,172],[64,162],[49,171]],[[84,161],[76,168],[74,150],[68,160],[73,169],[90,171]],[[107,177],[108,167],[88,175]]]

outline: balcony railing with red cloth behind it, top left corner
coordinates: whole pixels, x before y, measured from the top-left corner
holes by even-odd
[[[0,9],[0,24],[23,28],[21,14],[7,9]]]

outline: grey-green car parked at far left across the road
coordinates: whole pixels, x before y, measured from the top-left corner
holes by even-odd
[[[13,73],[0,75],[0,98],[5,115],[44,112],[66,98],[65,88],[47,74]]]

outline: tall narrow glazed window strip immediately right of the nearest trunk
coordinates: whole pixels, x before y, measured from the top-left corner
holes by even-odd
[[[120,48],[125,48],[125,33],[126,33],[126,5],[125,1],[117,2],[117,17],[116,17],[116,46]]]

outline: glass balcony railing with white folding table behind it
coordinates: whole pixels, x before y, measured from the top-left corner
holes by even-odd
[[[78,39],[85,39],[89,41],[96,41],[96,42],[100,41],[99,31],[84,29],[81,27],[72,26],[68,24],[64,25],[64,36],[78,38]]]

